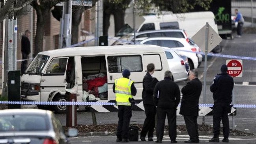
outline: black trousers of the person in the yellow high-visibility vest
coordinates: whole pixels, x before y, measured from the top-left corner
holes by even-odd
[[[117,138],[127,139],[129,124],[132,116],[131,106],[118,105],[118,127],[117,127]]]

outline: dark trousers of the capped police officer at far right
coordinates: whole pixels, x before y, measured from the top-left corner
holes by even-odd
[[[213,133],[214,137],[220,135],[220,120],[223,125],[223,136],[228,138],[229,136],[229,120],[228,112],[230,110],[229,103],[214,103],[213,105]]]

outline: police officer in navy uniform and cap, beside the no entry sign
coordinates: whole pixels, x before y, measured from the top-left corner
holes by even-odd
[[[220,135],[220,120],[223,125],[222,142],[228,142],[229,136],[229,120],[228,113],[230,113],[232,102],[232,90],[234,88],[234,79],[228,75],[228,67],[222,65],[220,68],[221,73],[217,74],[213,79],[213,83],[210,87],[213,92],[213,137],[209,139],[209,142],[219,142]]]

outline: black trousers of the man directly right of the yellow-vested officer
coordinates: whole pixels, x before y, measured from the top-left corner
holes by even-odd
[[[144,120],[144,124],[140,132],[140,136],[146,137],[148,133],[148,137],[153,137],[154,128],[155,128],[156,107],[155,105],[144,105],[144,109],[145,109],[146,119]]]

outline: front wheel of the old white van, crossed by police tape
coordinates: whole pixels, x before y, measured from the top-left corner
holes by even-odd
[[[67,102],[67,95],[57,95],[52,101]],[[56,113],[66,113],[67,105],[53,105],[53,109]]]

